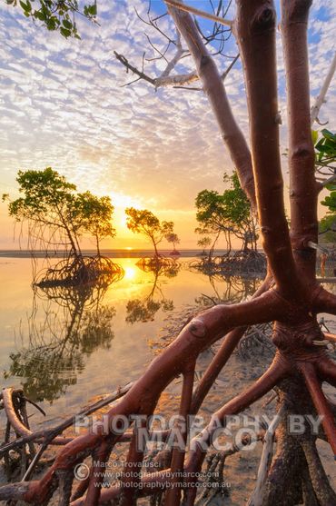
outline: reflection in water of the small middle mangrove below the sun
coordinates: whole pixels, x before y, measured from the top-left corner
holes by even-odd
[[[153,286],[143,299],[133,299],[126,304],[126,322],[153,322],[155,314],[173,311],[173,300],[166,299],[159,285],[160,277],[173,278],[179,272],[181,264],[171,258],[142,258],[136,265],[144,273],[153,273]]]

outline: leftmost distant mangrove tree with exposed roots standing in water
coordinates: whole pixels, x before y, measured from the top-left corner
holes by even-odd
[[[43,171],[19,171],[17,178],[19,198],[9,201],[8,210],[15,221],[26,225],[28,245],[50,254],[60,252],[63,260],[55,265],[48,262],[35,283],[42,287],[75,286],[97,283],[100,277],[122,275],[122,269],[112,260],[102,257],[100,243],[105,237],[114,237],[112,225],[114,206],[110,197],[93,193],[78,193],[75,184],[66,181],[51,167]],[[9,200],[8,195],[4,195]],[[94,237],[96,255],[82,253],[80,238]]]

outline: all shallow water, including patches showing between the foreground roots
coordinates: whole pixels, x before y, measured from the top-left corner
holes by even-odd
[[[192,310],[202,298],[240,300],[260,283],[238,277],[209,278],[189,269],[192,260],[183,258],[177,269],[156,276],[144,273],[136,265],[138,259],[120,258],[116,262],[123,266],[124,278],[106,291],[67,290],[53,293],[53,297],[49,293],[48,297],[41,289],[33,290],[28,258],[0,259],[2,386],[24,386],[26,395],[39,402],[47,412],[48,423],[54,425],[59,418],[78,412],[94,396],[137,379],[153,359],[152,342],[167,333],[166,327],[179,326],[184,310]],[[212,358],[211,353],[204,355],[198,362],[201,372]],[[212,387],[201,414],[209,418],[259,378],[270,360],[272,356],[267,353],[255,353],[248,361],[234,354]],[[180,390],[177,380],[162,400],[160,412],[176,409]],[[329,389],[327,393],[335,402],[334,392]],[[272,417],[273,410],[274,404],[265,406],[262,399],[247,413]],[[34,411],[29,408],[30,413]],[[38,413],[30,418],[33,427],[42,421]],[[261,450],[259,445],[225,462],[225,481],[230,483],[230,497],[225,498],[228,506],[241,506],[252,493]],[[322,445],[320,451],[332,478],[331,448]],[[5,477],[0,470],[1,481]],[[219,503],[222,496],[218,502],[211,502],[213,506]]]

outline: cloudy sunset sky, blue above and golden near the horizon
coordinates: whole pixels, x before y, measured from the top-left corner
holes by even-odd
[[[209,10],[203,0],[190,5]],[[154,0],[153,12],[164,12]],[[194,199],[204,188],[222,192],[223,172],[232,163],[202,92],[162,88],[133,80],[114,51],[153,77],[163,72],[164,61],[155,54],[146,35],[160,50],[164,39],[139,21],[147,2],[98,0],[99,25],[78,19],[81,40],[47,32],[0,0],[0,184],[2,193],[15,198],[19,169],[51,166],[79,191],[110,195],[114,203],[117,236],[103,247],[143,248],[149,244],[125,226],[124,208],[147,208],[160,219],[173,220],[181,248],[193,248]],[[278,5],[277,5],[278,8]],[[319,93],[335,50],[336,3],[315,0],[311,8],[309,47],[311,100]],[[234,7],[228,17],[234,15]],[[204,30],[210,28],[200,20]],[[163,31],[175,38],[172,20],[165,16]],[[286,103],[281,37],[277,37],[279,100],[282,113],[282,152],[286,149]],[[214,50],[212,48],[212,50]],[[227,55],[238,53],[234,38]],[[169,50],[167,57],[173,56]],[[147,59],[151,61],[147,61]],[[216,57],[221,69],[230,60]],[[183,59],[176,72],[193,70]],[[232,109],[248,137],[248,117],[242,68],[238,62],[225,80]],[[323,105],[321,122],[336,128],[335,79]],[[321,128],[321,127],[320,127]],[[285,184],[286,157],[282,157]],[[13,220],[0,205],[0,249],[19,247]],[[90,243],[84,243],[90,246]],[[163,246],[166,246],[163,244]]]

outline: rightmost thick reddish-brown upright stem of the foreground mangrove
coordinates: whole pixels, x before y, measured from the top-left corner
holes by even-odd
[[[291,238],[295,261],[307,280],[315,277],[318,242],[315,154],[311,107],[307,25],[311,0],[282,0],[282,45],[286,67],[289,124]]]

